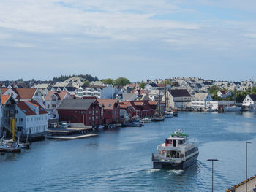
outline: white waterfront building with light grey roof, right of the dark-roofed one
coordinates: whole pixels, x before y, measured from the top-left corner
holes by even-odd
[[[212,101],[213,99],[209,95],[209,93],[195,93],[192,97],[192,108],[194,109],[204,109],[207,107],[208,101]]]

